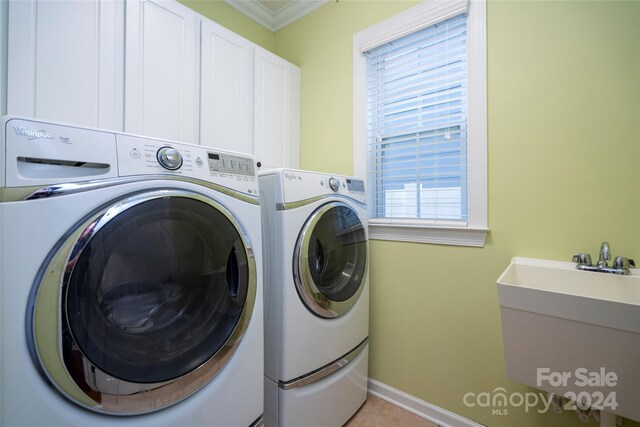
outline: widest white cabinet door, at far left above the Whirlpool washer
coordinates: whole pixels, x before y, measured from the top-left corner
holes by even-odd
[[[11,1],[7,113],[122,130],[121,1]]]

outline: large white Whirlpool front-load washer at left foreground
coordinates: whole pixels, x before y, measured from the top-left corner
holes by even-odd
[[[253,159],[18,117],[0,140],[0,424],[261,424]]]

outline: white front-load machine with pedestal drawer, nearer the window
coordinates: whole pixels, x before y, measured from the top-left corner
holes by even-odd
[[[367,395],[364,182],[259,174],[265,271],[265,425],[341,426]]]

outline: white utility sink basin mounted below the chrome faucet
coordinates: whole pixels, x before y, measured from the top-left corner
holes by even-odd
[[[640,421],[638,270],[622,276],[514,257],[497,283],[507,376],[560,395],[585,392],[585,403],[595,403],[597,392],[613,393],[615,405],[605,411]],[[554,372],[567,380],[544,376]],[[616,380],[582,381],[603,372]]]

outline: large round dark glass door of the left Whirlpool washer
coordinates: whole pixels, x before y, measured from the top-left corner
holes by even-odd
[[[242,338],[255,299],[253,255],[229,211],[195,193],[156,191],[111,206],[78,231],[49,267],[66,260],[58,282],[62,363],[98,404],[88,406],[147,412],[212,379]],[[36,302],[36,315],[45,312],[38,304],[45,303]],[[54,349],[39,327],[36,316],[36,347],[51,377],[45,353]],[[151,400],[156,407],[147,407]]]

